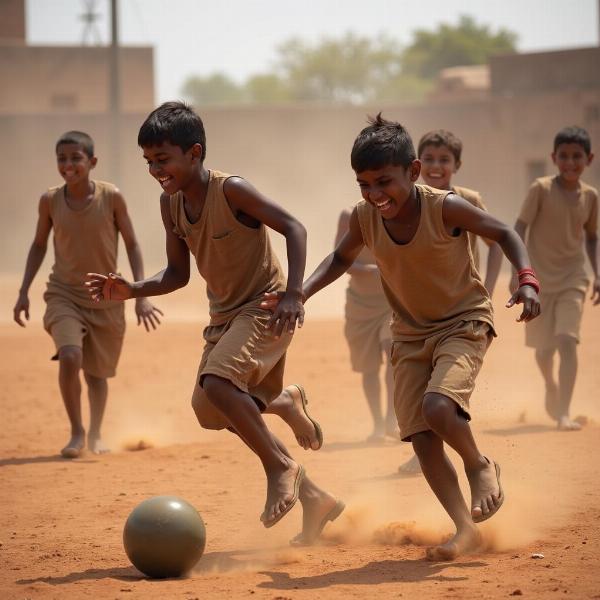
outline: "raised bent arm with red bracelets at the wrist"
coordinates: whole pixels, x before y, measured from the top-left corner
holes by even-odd
[[[523,240],[514,229],[459,196],[450,194],[444,200],[442,210],[447,229],[463,229],[496,242],[518,272],[531,268],[531,261]],[[523,304],[518,321],[530,321],[540,313],[540,302],[531,277],[523,277],[521,285],[511,296],[506,306]]]

